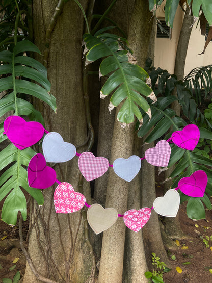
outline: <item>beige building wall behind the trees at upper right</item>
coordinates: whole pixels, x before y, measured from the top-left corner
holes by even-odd
[[[157,10],[156,16],[159,19],[165,19],[164,3]],[[171,40],[169,38],[157,38],[155,36],[155,58],[154,65],[166,69],[170,74],[174,73],[175,55],[177,49],[178,38],[183,21],[184,13],[178,7],[173,29],[171,31]],[[200,27],[197,23],[192,28],[191,38],[189,42],[186,66],[184,76],[186,76],[195,67],[206,66],[212,64],[212,42],[210,42],[205,50],[205,54],[198,55],[202,52],[205,44],[205,37],[201,35]]]

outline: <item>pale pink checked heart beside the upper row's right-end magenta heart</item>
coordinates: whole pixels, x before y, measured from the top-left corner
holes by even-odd
[[[145,152],[146,161],[158,167],[166,167],[169,164],[170,155],[171,147],[165,140],[159,141],[155,147],[151,147]]]

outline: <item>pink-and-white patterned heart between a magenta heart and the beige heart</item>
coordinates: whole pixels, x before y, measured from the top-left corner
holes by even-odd
[[[82,209],[86,198],[75,192],[71,184],[62,182],[54,192],[55,211],[57,213],[71,213]]]

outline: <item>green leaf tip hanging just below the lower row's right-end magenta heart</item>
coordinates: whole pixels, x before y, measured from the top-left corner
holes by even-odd
[[[199,197],[191,197],[186,210],[188,217],[191,219],[205,219],[205,209]]]

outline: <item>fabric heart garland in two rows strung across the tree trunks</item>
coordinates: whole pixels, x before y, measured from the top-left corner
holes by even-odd
[[[54,204],[56,213],[73,213],[84,207],[88,207],[88,223],[96,234],[110,228],[118,217],[123,217],[125,225],[138,232],[149,220],[151,210],[162,216],[176,217],[180,195],[177,192],[191,197],[203,197],[207,185],[207,175],[204,171],[195,171],[190,177],[181,178],[175,189],[170,189],[163,197],[157,197],[152,208],[141,208],[140,210],[131,209],[123,215],[118,214],[114,208],[103,208],[100,204],[89,205],[86,198],[80,192],[75,192],[71,184],[60,182],[57,179],[53,168],[46,165],[46,162],[66,162],[74,156],[78,156],[78,167],[86,181],[92,181],[101,177],[107,172],[109,167],[113,167],[114,172],[127,182],[131,182],[139,173],[141,160],[146,159],[153,166],[166,167],[171,156],[169,143],[176,146],[193,150],[200,137],[199,128],[194,124],[185,126],[181,131],[172,133],[171,138],[158,141],[155,147],[149,148],[145,156],[140,158],[136,155],[128,159],[118,158],[113,164],[109,164],[107,158],[95,157],[91,152],[76,152],[73,144],[64,142],[62,136],[56,132],[48,132],[39,122],[26,122],[19,116],[9,116],[4,122],[4,133],[8,139],[20,150],[23,150],[42,141],[43,155],[37,153],[28,165],[29,186],[36,189],[46,189],[55,182],[58,186],[54,192]]]

